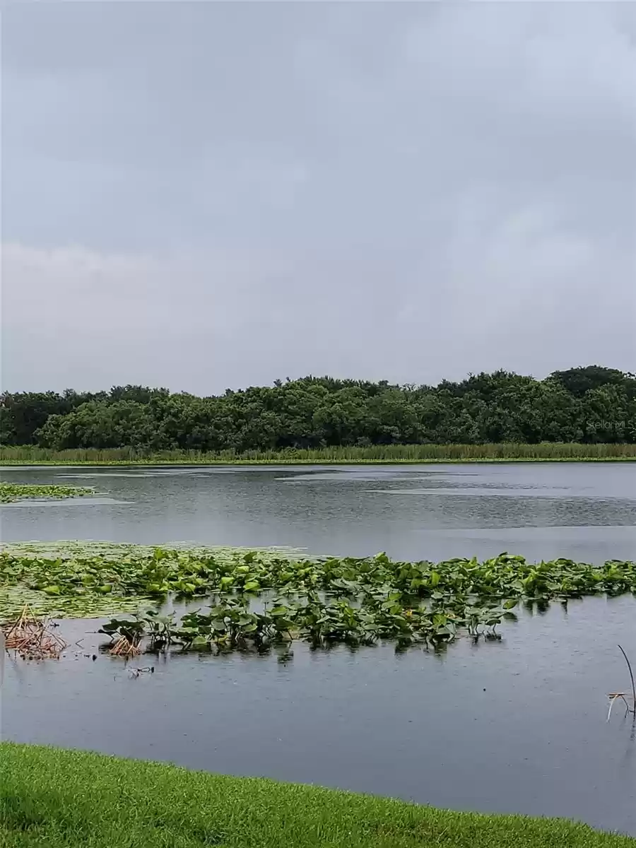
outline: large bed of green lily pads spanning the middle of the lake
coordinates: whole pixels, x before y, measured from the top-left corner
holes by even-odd
[[[498,639],[499,624],[514,620],[519,604],[544,609],[551,600],[636,594],[636,564],[533,563],[507,553],[433,563],[293,549],[18,543],[0,551],[0,587],[0,616],[19,598],[24,605],[25,594],[34,610],[55,608],[60,617],[133,611],[103,632],[132,645],[146,639],[149,650],[266,650],[298,638],[315,647],[390,639],[404,648],[439,646],[462,633]],[[162,611],[167,600],[199,607],[176,622]]]

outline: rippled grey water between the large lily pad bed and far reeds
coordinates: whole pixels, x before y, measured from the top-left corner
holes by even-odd
[[[288,544],[404,559],[632,558],[636,466],[357,466],[5,469],[102,498],[4,508],[2,538]]]

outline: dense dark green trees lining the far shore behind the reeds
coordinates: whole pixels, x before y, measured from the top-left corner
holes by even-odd
[[[0,441],[53,450],[315,449],[387,444],[636,442],[636,376],[600,365],[437,386],[303,377],[219,396],[116,386],[3,393]]]

